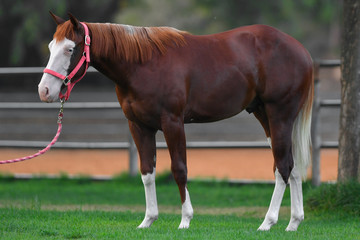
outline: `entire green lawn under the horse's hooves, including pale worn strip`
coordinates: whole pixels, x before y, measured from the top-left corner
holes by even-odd
[[[157,179],[159,220],[150,229],[136,229],[145,209],[140,177],[124,175],[103,182],[3,177],[0,239],[360,239],[359,215],[339,211],[307,210],[298,231],[285,232],[289,207],[271,231],[257,232],[273,185],[193,181],[189,190],[195,211],[190,229],[177,229],[179,193],[167,175]],[[305,198],[313,191],[304,184]],[[98,210],[89,211],[86,206]],[[239,213],[239,206],[246,211]],[[288,189],[283,206],[289,206]],[[201,212],[204,209],[208,214]]]

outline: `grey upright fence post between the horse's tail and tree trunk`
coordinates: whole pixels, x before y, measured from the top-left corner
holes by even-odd
[[[319,134],[319,115],[320,115],[320,96],[319,96],[319,64],[314,64],[314,101],[312,109],[311,121],[311,140],[312,140],[312,177],[311,182],[313,186],[320,186],[320,148],[321,136]]]

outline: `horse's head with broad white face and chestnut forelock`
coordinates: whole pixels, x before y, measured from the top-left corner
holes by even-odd
[[[50,59],[46,69],[68,76],[83,56],[85,30],[71,14],[69,14],[70,20],[68,21],[51,12],[50,14],[57,24],[57,29],[53,40],[49,43]],[[86,71],[85,68],[85,64],[83,64],[74,79],[79,78]],[[43,102],[56,101],[64,87],[60,78],[44,73],[39,83],[40,99]]]

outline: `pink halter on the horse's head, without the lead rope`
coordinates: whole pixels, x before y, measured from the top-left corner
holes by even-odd
[[[83,56],[81,57],[80,61],[78,62],[78,64],[74,68],[74,70],[72,70],[72,72],[69,75],[64,76],[64,75],[62,75],[62,74],[60,74],[58,72],[55,72],[55,71],[53,71],[51,69],[48,69],[48,68],[44,69],[44,73],[49,73],[49,74],[51,74],[51,75],[53,75],[55,77],[60,78],[63,81],[64,85],[67,87],[67,91],[66,91],[65,95],[62,94],[61,91],[59,93],[59,98],[60,99],[65,98],[65,101],[67,101],[69,99],[71,90],[73,89],[75,84],[77,82],[79,82],[85,76],[86,70],[88,69],[89,63],[90,63],[90,42],[91,42],[91,39],[90,39],[90,35],[89,35],[89,29],[88,29],[88,27],[87,27],[87,25],[85,23],[83,23],[83,22],[80,22],[80,23],[83,25],[84,30],[85,30],[84,52],[83,52]],[[79,69],[81,68],[81,66],[83,65],[84,62],[86,64],[86,66],[85,66],[85,71],[84,71],[83,75],[79,79],[72,82],[71,81],[72,78],[76,75],[76,73],[79,71]]]

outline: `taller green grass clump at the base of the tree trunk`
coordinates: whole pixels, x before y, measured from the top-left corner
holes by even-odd
[[[309,192],[306,205],[312,211],[360,215],[360,183],[323,184]]]

